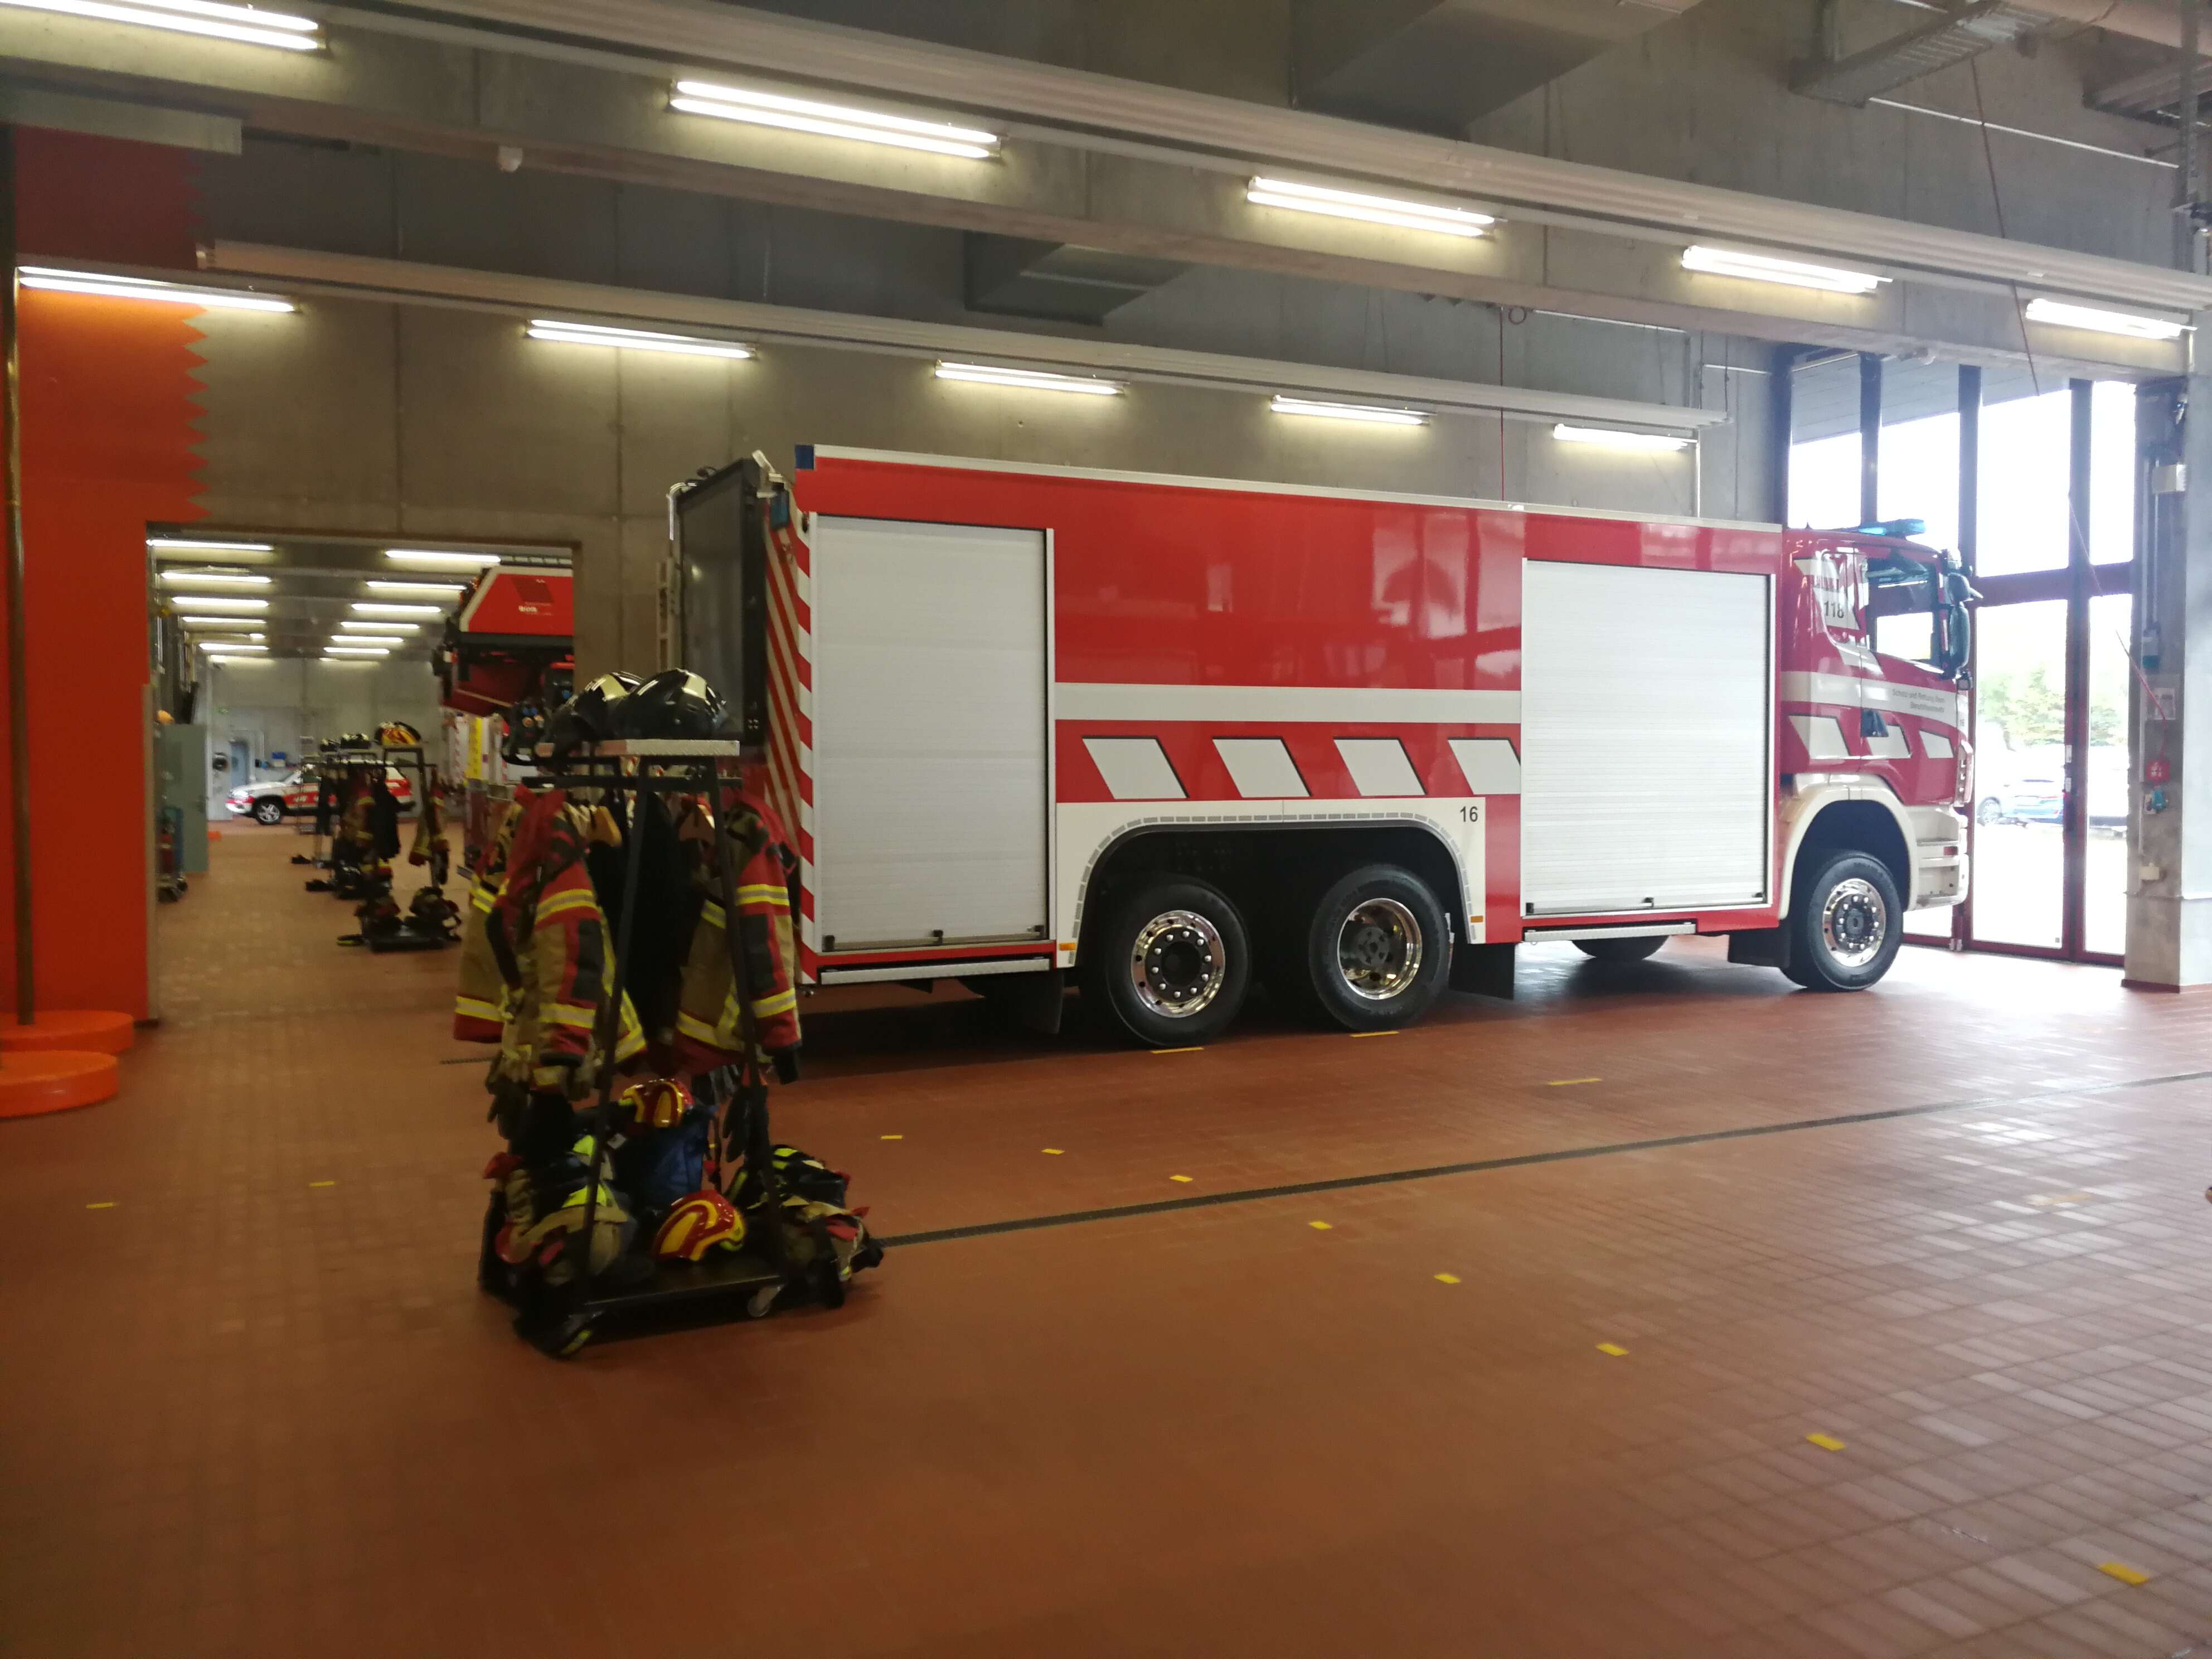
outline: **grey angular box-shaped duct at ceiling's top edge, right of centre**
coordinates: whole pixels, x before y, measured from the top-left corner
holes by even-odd
[[[1697,0],[1294,0],[1301,108],[1464,137]]]

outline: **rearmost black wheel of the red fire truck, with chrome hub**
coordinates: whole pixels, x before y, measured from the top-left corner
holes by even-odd
[[[1212,1042],[1252,989],[1243,916],[1188,876],[1139,878],[1113,898],[1084,956],[1084,1002],[1146,1048]]]

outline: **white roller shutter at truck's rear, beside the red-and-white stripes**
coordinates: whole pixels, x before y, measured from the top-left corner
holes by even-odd
[[[1040,938],[1044,533],[818,518],[812,553],[825,949]]]

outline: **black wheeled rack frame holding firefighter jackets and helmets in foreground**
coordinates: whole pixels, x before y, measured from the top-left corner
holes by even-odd
[[[622,796],[626,810],[619,818],[637,823],[635,801],[644,794],[710,794],[719,799],[734,779],[723,768],[741,757],[734,741],[706,739],[633,739],[599,743],[560,763],[560,770],[540,772],[535,787],[544,790],[597,790],[604,796]],[[737,863],[726,836],[717,836],[714,896],[728,916],[737,916]],[[776,1172],[774,1137],[768,1128],[768,1082],[757,1062],[741,1071],[737,1091],[717,1106],[723,1126],[723,1146],[741,1148],[741,1157],[752,1177],[761,1183],[757,1206],[759,1225],[745,1228],[741,1248],[721,1252],[706,1261],[657,1261],[624,1256],[602,1272],[593,1272],[593,1239],[597,1228],[602,1157],[613,1146],[608,1133],[615,1121],[615,1051],[617,1026],[624,998],[630,989],[630,947],[637,920],[639,872],[644,858],[624,860],[622,911],[613,925],[611,975],[597,1026],[597,1073],[591,1084],[593,1110],[580,1115],[588,1124],[580,1144],[588,1144],[584,1159],[584,1219],[562,1241],[562,1261],[568,1272],[564,1285],[540,1287],[542,1298],[531,1329],[522,1332],[533,1345],[553,1358],[571,1358],[599,1332],[602,1323],[644,1321],[659,1314],[679,1314],[726,1305],[737,1318],[761,1318],[779,1305],[814,1301],[836,1307],[845,1301],[845,1283],[836,1261],[816,1256],[801,1265],[792,1259],[783,1234],[785,1186]],[[728,929],[732,971],[741,971],[734,953],[737,929]],[[493,1248],[500,1228],[500,1197],[493,1192],[484,1217],[482,1254],[478,1261],[478,1283],[507,1301],[511,1294],[511,1270]],[[549,1305],[546,1305],[549,1303]],[[518,1329],[522,1318],[518,1316]]]

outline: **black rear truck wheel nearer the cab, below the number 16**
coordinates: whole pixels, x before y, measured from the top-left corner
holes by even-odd
[[[1451,973],[1451,922],[1429,885],[1398,865],[1332,883],[1305,927],[1305,982],[1345,1031],[1398,1031],[1429,1011]]]

